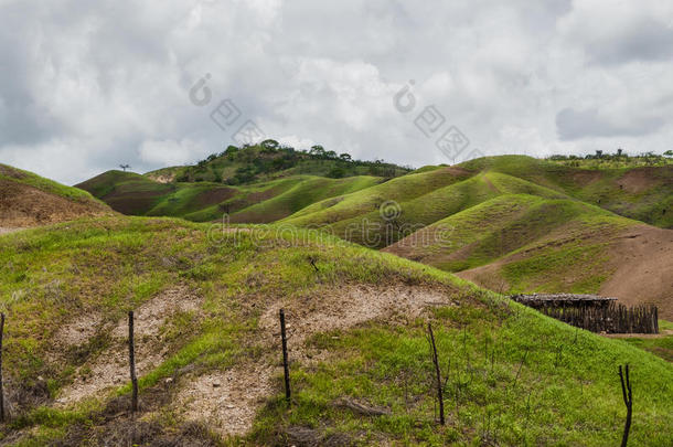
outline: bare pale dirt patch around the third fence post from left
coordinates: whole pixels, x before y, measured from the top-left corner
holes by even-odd
[[[289,356],[305,363],[319,359],[320,352],[307,351],[306,340],[319,332],[348,329],[365,321],[408,321],[420,316],[429,306],[450,305],[446,292],[418,287],[350,286],[327,294],[314,294],[267,308],[260,320],[260,344],[273,349],[278,344],[278,311],[286,310]],[[324,354],[324,353],[323,353]],[[209,372],[185,377],[177,409],[183,408],[188,421],[203,421],[223,436],[243,435],[265,401],[281,391],[274,377],[281,374],[278,355],[261,362],[248,362],[224,372]]]

